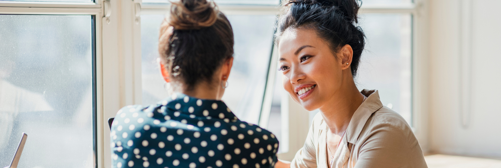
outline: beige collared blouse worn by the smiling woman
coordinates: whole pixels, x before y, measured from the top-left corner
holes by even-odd
[[[423,152],[407,122],[383,106],[377,90],[362,90],[367,99],[351,118],[334,153],[334,167],[427,167]],[[319,113],[305,145],[291,167],[328,167],[327,124]]]

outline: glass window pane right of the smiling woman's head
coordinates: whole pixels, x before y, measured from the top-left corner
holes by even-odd
[[[383,105],[398,112],[411,125],[412,17],[365,14],[361,18],[367,43],[356,77],[358,88],[379,90]]]

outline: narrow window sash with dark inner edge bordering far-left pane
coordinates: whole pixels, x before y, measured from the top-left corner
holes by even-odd
[[[56,2],[5,2],[0,1],[2,15],[90,15],[92,41],[92,87],[93,87],[93,153],[95,167],[104,167],[103,147],[103,60],[102,60],[102,6],[96,3],[56,3]],[[109,132],[109,130],[108,130]],[[108,156],[109,157],[109,156]],[[110,157],[111,158],[111,157]]]

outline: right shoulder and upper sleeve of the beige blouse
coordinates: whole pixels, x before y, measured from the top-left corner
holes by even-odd
[[[369,117],[357,144],[360,147],[359,161],[360,158],[366,158],[362,162],[357,162],[360,165],[375,164],[385,159],[393,165],[409,166],[411,163],[416,167],[425,165],[419,142],[407,121],[385,106]]]

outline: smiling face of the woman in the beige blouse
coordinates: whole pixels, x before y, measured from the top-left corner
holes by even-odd
[[[322,107],[341,89],[343,70],[351,59],[338,59],[337,55],[343,57],[335,56],[313,30],[288,30],[280,37],[279,71],[284,74],[284,89],[306,110]]]

